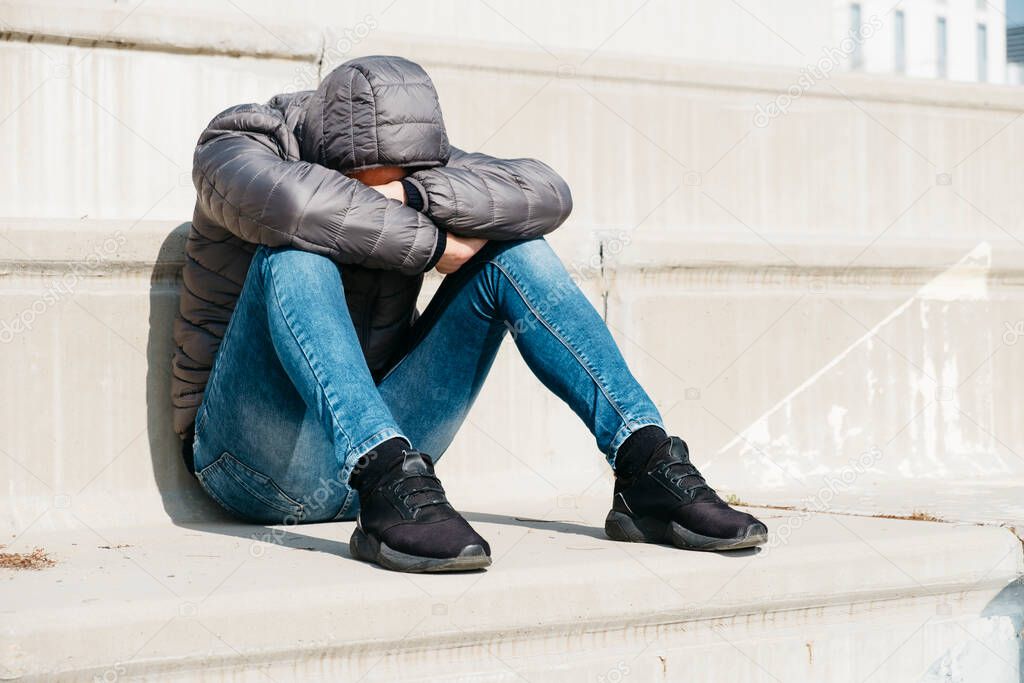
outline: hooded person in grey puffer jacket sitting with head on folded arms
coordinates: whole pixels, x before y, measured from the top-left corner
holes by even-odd
[[[315,91],[232,106],[200,137],[173,359],[186,465],[259,523],[352,519],[356,558],[476,569],[487,542],[434,462],[508,331],[615,473],[617,541],[765,541],[670,437],[601,317],[544,240],[565,181],[449,144],[418,65],[362,57]],[[423,273],[445,275],[422,315]],[[429,454],[429,455],[428,455]]]

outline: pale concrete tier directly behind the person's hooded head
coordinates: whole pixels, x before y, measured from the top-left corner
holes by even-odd
[[[0,143],[15,151],[0,159],[4,214],[187,218],[191,153],[217,112],[314,87],[321,71],[375,52],[426,67],[455,144],[558,169],[584,229],[703,236],[745,224],[769,243],[867,246],[887,226],[883,245],[925,226],[934,239],[979,241],[1014,226],[1024,171],[997,162],[1022,143],[1015,88],[836,73],[758,116],[799,69],[548,54],[381,29],[323,63],[2,42],[0,92],[12,104]]]

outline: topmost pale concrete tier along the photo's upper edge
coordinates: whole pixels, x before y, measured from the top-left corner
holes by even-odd
[[[338,3],[307,0],[283,15],[272,0],[209,3],[203,0],[83,3],[79,0],[5,2],[5,20],[18,33],[89,44],[126,44],[142,49],[225,52],[314,60],[346,52],[373,35],[388,33],[438,44],[483,44],[552,53],[579,50],[652,55],[658,58],[729,60],[739,52],[751,61],[799,66],[816,58],[818,43],[833,37],[836,17],[825,4],[771,0],[764,11],[786,17],[779,29],[794,45],[759,40],[764,27],[741,6],[687,6],[568,0],[551,12],[541,0],[487,3],[440,0],[430,11],[410,11],[400,3],[378,0]],[[998,2],[996,6],[998,6]],[[866,18],[866,17],[865,17]],[[702,24],[720,23],[728,32],[712,35]],[[671,24],[672,30],[666,30]],[[614,28],[618,31],[609,35]],[[838,41],[841,35],[835,36]],[[801,54],[803,52],[803,55]]]

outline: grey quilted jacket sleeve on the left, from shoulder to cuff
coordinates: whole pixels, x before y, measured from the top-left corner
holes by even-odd
[[[233,106],[210,123],[196,147],[193,181],[200,208],[253,244],[412,274],[428,265],[437,241],[422,213],[300,161],[284,119],[261,104]]]

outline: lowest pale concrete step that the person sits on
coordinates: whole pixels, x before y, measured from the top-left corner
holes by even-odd
[[[450,575],[350,560],[352,523],[41,524],[16,546],[55,566],[0,571],[0,677],[1018,680],[1005,529],[755,509],[765,549],[709,554],[608,541],[606,505],[467,510],[495,563]]]

